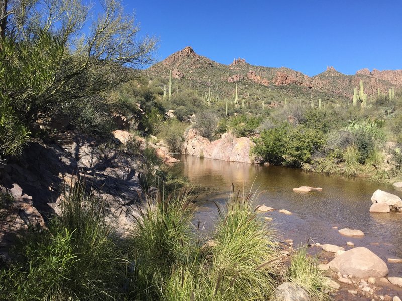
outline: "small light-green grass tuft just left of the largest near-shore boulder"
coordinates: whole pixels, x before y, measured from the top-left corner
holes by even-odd
[[[307,248],[303,247],[292,256],[287,270],[287,280],[306,290],[313,301],[329,300],[329,295],[325,292],[329,290],[324,284],[326,277],[317,268],[316,260],[306,253]]]

